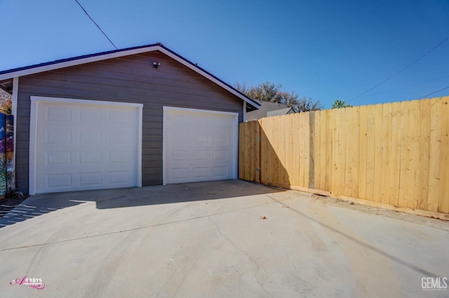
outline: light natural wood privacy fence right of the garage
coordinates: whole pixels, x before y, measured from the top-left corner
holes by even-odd
[[[449,97],[240,124],[239,178],[449,213]]]

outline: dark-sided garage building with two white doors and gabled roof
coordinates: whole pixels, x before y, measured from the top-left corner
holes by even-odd
[[[0,72],[25,194],[236,179],[257,102],[161,43]]]

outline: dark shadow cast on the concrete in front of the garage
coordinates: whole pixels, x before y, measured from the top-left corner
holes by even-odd
[[[30,196],[18,207],[2,217],[0,219],[0,229],[4,226],[47,214],[48,212],[87,202],[95,202],[97,209],[109,209],[255,196],[279,191],[283,190],[264,187],[260,184],[243,180],[220,180],[141,188],[38,194]]]

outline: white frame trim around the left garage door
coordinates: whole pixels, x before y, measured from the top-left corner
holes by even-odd
[[[138,187],[142,187],[142,110],[143,104],[132,102],[107,102],[101,100],[79,100],[74,98],[58,98],[31,96],[29,112],[29,194],[36,194],[36,147],[37,147],[37,115],[40,102],[62,102],[70,104],[91,104],[97,106],[119,106],[138,108]]]

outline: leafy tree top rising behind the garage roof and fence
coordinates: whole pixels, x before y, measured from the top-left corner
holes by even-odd
[[[312,97],[299,97],[294,91],[287,92],[282,84],[264,82],[248,87],[245,83],[236,83],[235,88],[253,100],[286,104],[297,112],[323,109],[323,104],[318,100]]]

